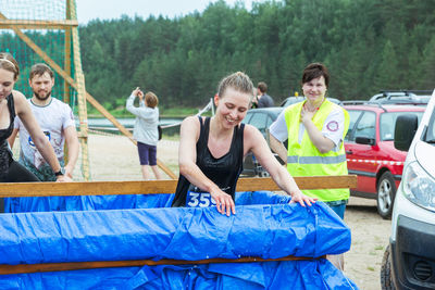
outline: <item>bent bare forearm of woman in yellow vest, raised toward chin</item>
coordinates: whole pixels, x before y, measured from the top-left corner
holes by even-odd
[[[300,113],[301,122],[303,123],[308,136],[310,137],[310,140],[315,146],[315,148],[321,153],[330,152],[331,150],[333,150],[335,144],[331,139],[324,137],[322,131],[320,131],[318,127],[315,127],[314,123],[312,122],[314,113],[315,111],[309,111],[306,108],[302,108],[302,111]]]

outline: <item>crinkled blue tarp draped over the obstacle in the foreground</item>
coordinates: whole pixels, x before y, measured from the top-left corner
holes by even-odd
[[[120,197],[124,197],[124,202],[116,203]],[[96,204],[108,205],[108,200],[112,199],[94,198],[94,209],[98,209]],[[344,253],[350,248],[349,228],[321,202],[302,207],[286,204],[287,197],[271,192],[245,192],[238,194],[236,203],[251,205],[236,206],[237,213],[231,217],[219,214],[215,207],[140,209],[147,207],[146,204],[165,206],[172,198],[172,194],[119,196],[113,200],[113,204],[123,204],[121,206],[135,204],[136,210],[1,214],[0,264],[145,259],[195,261],[240,256],[274,259],[287,255],[319,257]],[[98,199],[100,203],[96,203]],[[79,200],[75,204],[85,204],[84,199]],[[241,287],[357,289],[323,259],[0,276],[0,289]]]

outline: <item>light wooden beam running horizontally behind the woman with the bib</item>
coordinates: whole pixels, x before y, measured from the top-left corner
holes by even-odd
[[[300,189],[357,187],[356,175],[295,177]],[[0,198],[174,193],[177,180],[0,184]],[[240,178],[237,191],[281,190],[272,178]]]

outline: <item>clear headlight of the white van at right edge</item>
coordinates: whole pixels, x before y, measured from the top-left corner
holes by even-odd
[[[408,200],[435,212],[435,180],[419,163],[411,162],[403,168],[401,182]]]

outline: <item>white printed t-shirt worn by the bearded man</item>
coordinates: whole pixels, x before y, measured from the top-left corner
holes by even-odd
[[[50,140],[55,155],[59,161],[62,161],[63,146],[65,143],[63,130],[70,126],[75,126],[73,111],[70,105],[54,98],[51,98],[51,102],[46,106],[36,105],[30,99],[27,101],[44,134]],[[39,168],[42,164],[47,164],[42,155],[36,149],[30,135],[24,127],[20,117],[15,118],[14,128],[20,130],[20,157],[24,157],[26,161],[34,164],[36,168]]]

